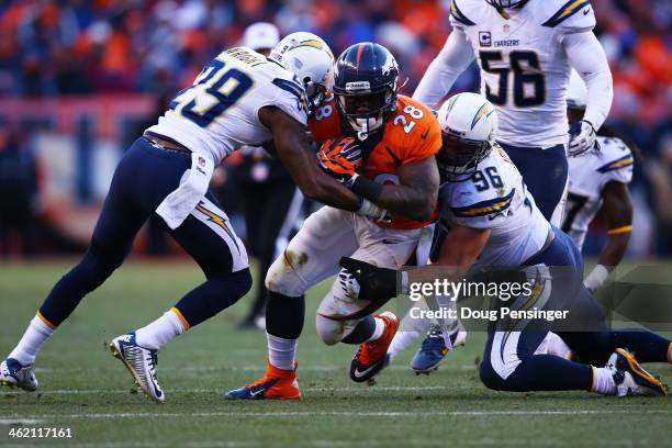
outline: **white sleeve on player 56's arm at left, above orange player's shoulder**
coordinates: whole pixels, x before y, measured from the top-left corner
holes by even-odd
[[[456,27],[448,36],[444,48],[429,64],[425,76],[413,93],[413,99],[429,107],[436,107],[473,59],[473,48],[467,34]]]

